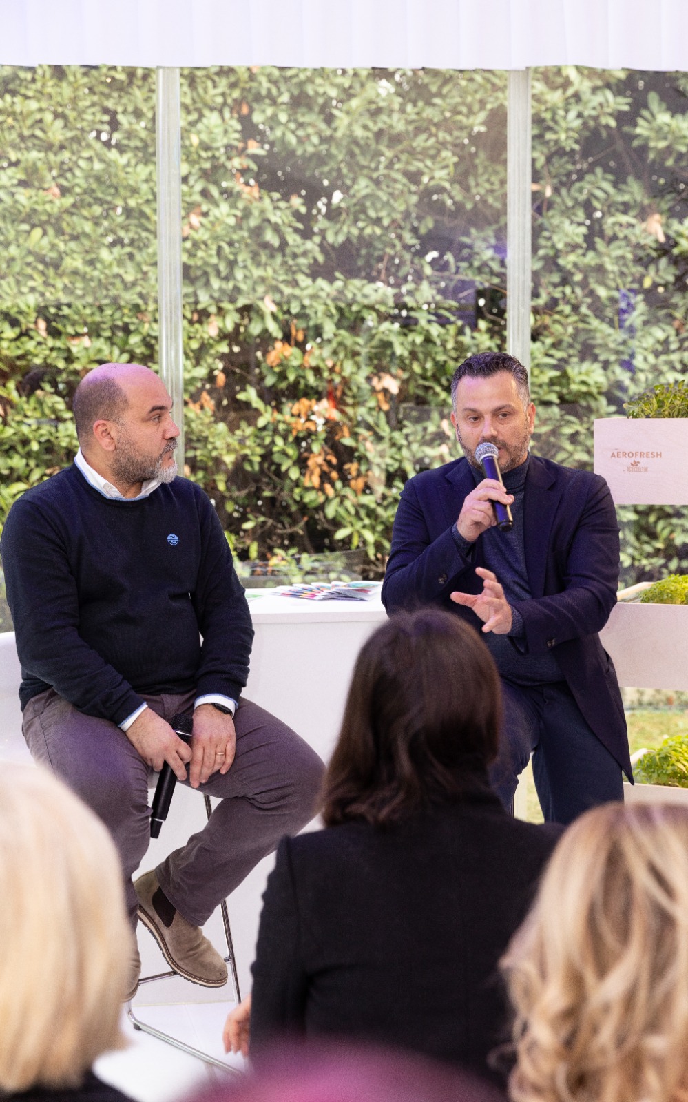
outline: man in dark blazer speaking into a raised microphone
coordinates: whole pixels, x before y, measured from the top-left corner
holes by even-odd
[[[616,674],[598,633],[616,599],[619,526],[599,475],[530,455],[535,406],[522,364],[471,356],[452,379],[452,423],[465,457],[407,482],[394,523],[383,603],[437,604],[482,630],[502,676],[502,749],[493,787],[510,807],[533,753],[545,818],[568,823],[622,800],[632,777]],[[498,449],[504,486],[475,449]],[[514,527],[496,527],[494,501]]]

